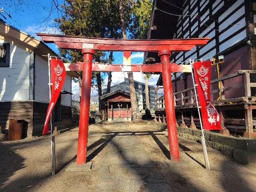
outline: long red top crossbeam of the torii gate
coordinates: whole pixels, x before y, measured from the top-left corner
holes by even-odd
[[[132,52],[158,52],[160,50],[189,51],[194,46],[202,46],[210,38],[171,39],[171,40],[132,40],[87,38],[80,36],[57,35],[37,33],[46,43],[55,43],[63,49],[91,48],[98,51],[132,51]]]

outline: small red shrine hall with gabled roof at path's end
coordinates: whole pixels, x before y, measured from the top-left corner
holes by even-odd
[[[108,121],[123,122],[132,120],[130,93],[118,89],[105,94],[100,99],[107,103]]]

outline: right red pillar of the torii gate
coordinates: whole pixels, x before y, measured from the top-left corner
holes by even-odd
[[[162,77],[164,86],[164,99],[170,156],[173,161],[180,161],[178,134],[176,129],[176,118],[174,112],[174,101],[172,92],[172,78],[170,76],[170,54],[170,50],[160,50],[158,52],[158,56],[160,56],[162,63]]]

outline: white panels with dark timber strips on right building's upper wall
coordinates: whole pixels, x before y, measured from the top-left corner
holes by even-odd
[[[225,2],[224,0],[212,2],[203,0],[196,7],[194,2],[185,3],[183,9],[188,10],[192,14],[200,15],[200,20],[209,27],[198,21],[196,17],[191,17],[190,26],[186,27],[188,24],[186,26],[184,24],[187,23],[188,18],[178,18],[175,38],[211,37],[212,39],[205,46],[198,48],[197,51],[194,49],[174,54],[176,63],[188,60],[189,58],[210,58],[217,52],[225,51],[230,46],[246,38],[245,4],[246,1],[244,0]],[[210,19],[213,17],[216,18],[216,21]],[[213,29],[219,31],[216,32]],[[198,52],[198,55],[195,51]],[[184,58],[182,57],[183,54]]]

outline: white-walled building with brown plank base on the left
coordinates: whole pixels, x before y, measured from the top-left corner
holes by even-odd
[[[24,120],[28,136],[42,134],[49,103],[48,57],[57,56],[42,41],[0,20],[0,126]],[[55,126],[71,124],[71,76],[66,75],[53,112]],[[65,93],[65,94],[64,94]]]

